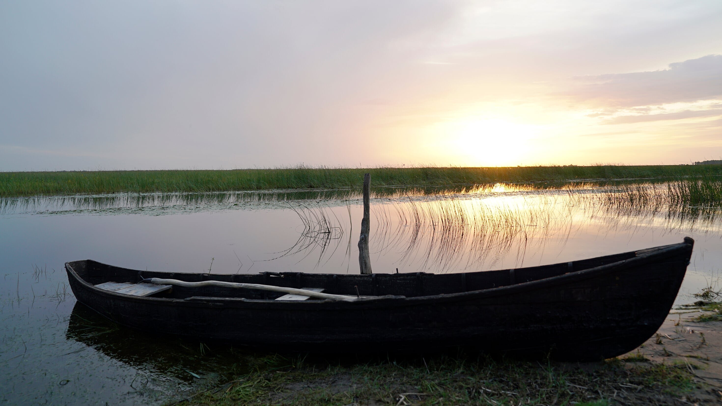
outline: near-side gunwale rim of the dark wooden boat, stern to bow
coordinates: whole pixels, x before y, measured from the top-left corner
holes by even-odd
[[[224,304],[243,304],[243,305],[270,305],[272,304],[274,308],[289,308],[290,306],[293,306],[294,308],[296,306],[359,306],[360,304],[367,304],[367,305],[375,305],[375,304],[395,304],[399,306],[403,305],[409,305],[409,306],[415,306],[419,304],[425,304],[427,302],[433,302],[433,303],[443,303],[447,301],[460,301],[460,300],[466,300],[466,299],[486,299],[486,298],[492,298],[496,296],[504,296],[508,294],[518,294],[519,291],[526,291],[526,290],[534,290],[536,288],[545,288],[549,285],[557,285],[557,284],[564,284],[564,283],[570,283],[575,281],[583,281],[588,278],[594,278],[599,275],[604,275],[604,273],[614,272],[615,270],[618,270],[619,268],[628,268],[635,265],[643,265],[645,262],[649,262],[651,259],[657,259],[659,257],[671,257],[674,255],[674,253],[677,253],[679,251],[684,250],[691,250],[692,245],[694,244],[694,240],[692,240],[690,237],[685,237],[684,242],[680,242],[677,244],[669,244],[664,245],[660,247],[652,247],[644,250],[637,250],[637,251],[629,251],[629,252],[623,252],[622,254],[632,254],[637,252],[643,252],[641,255],[637,255],[635,257],[627,258],[626,260],[621,260],[617,262],[610,262],[608,264],[599,265],[593,268],[586,268],[583,270],[576,270],[569,273],[563,273],[562,275],[555,275],[550,276],[549,278],[542,278],[538,279],[536,281],[528,281],[528,282],[521,282],[521,283],[515,283],[512,285],[506,285],[506,286],[498,286],[495,288],[487,288],[487,289],[479,289],[476,291],[466,291],[466,292],[456,292],[453,294],[435,294],[435,295],[426,295],[426,296],[394,296],[394,295],[385,295],[385,296],[377,296],[373,298],[362,298],[357,299],[355,301],[339,301],[334,299],[324,299],[324,300],[314,300],[314,301],[275,301],[271,299],[246,299],[246,298],[224,298],[224,297],[212,297],[212,296],[190,296],[186,299],[170,299],[170,298],[155,298],[155,297],[142,297],[142,296],[132,296],[127,294],[118,294],[117,292],[113,291],[105,291],[101,288],[96,288],[91,283],[85,281],[80,275],[78,275],[75,270],[70,265],[70,262],[65,263],[65,268],[68,273],[70,273],[76,281],[79,281],[81,285],[84,288],[90,288],[90,292],[93,294],[97,294],[100,296],[106,296],[108,299],[122,299],[124,301],[139,301],[141,303],[156,303],[156,304],[173,304],[178,305],[181,304],[183,306],[203,306],[203,307],[219,307]],[[604,257],[604,256],[603,256]],[[598,258],[598,257],[595,257]],[[591,258],[591,259],[595,259]],[[86,260],[87,261],[87,260]],[[96,261],[97,262],[97,261]],[[102,263],[102,262],[98,262]],[[558,262],[557,264],[550,264],[550,265],[558,265],[563,264],[565,262]],[[108,264],[103,264],[108,265]],[[113,266],[113,265],[108,265]],[[529,267],[529,268],[536,268],[536,267]],[[129,268],[123,268],[128,269]],[[521,269],[521,268],[519,268]],[[489,271],[476,271],[476,272],[470,272],[466,273],[467,275],[472,273],[483,273],[483,272],[489,272]],[[196,274],[197,275],[197,274]],[[334,274],[312,274],[312,275],[334,275]],[[192,298],[192,299],[191,299]],[[255,307],[255,306],[254,306]]]

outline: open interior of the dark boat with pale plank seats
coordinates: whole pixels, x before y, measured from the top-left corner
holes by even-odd
[[[489,270],[472,273],[373,273],[372,275],[343,275],[297,272],[264,272],[257,274],[209,274],[139,271],[106,265],[94,260],[68,262],[69,268],[87,283],[108,291],[134,296],[186,299],[192,296],[245,298],[258,300],[305,300],[308,296],[288,295],[274,291],[219,286],[168,286],[138,283],[142,278],[167,278],[186,282],[224,281],[258,283],[286,288],[321,291],[347,296],[431,296],[478,291],[516,283],[538,281],[565,273],[627,260],[651,250],[625,252],[587,260],[562,262],[530,268]],[[294,297],[297,296],[297,297]],[[311,299],[313,300],[313,299]]]

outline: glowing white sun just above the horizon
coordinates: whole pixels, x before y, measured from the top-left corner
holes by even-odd
[[[536,136],[533,125],[497,119],[472,119],[449,123],[445,128],[446,147],[459,161],[480,166],[523,164],[529,159],[530,141]]]

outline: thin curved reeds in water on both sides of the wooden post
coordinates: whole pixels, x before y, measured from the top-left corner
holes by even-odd
[[[571,226],[564,195],[487,202],[469,198],[462,190],[460,195],[377,199],[372,206],[372,254],[391,252],[399,257],[395,264],[407,270],[476,268],[484,261],[497,262],[509,250],[517,250],[516,260],[521,261],[531,239],[544,241],[554,234],[565,234]],[[272,253],[269,260],[298,255],[300,262],[315,252],[318,266],[344,250],[344,244],[348,268],[352,262],[353,219],[349,200],[344,202],[348,216],[341,215],[344,210],[339,208],[343,206],[336,204],[334,210],[326,201],[284,202],[300,219],[299,237],[287,250]]]

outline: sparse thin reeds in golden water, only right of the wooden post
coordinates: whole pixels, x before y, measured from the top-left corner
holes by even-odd
[[[375,206],[374,253],[401,253],[399,266],[443,272],[492,266],[510,250],[523,260],[531,239],[564,234],[567,207],[557,198],[513,200],[408,198]],[[555,231],[550,231],[550,230]]]

